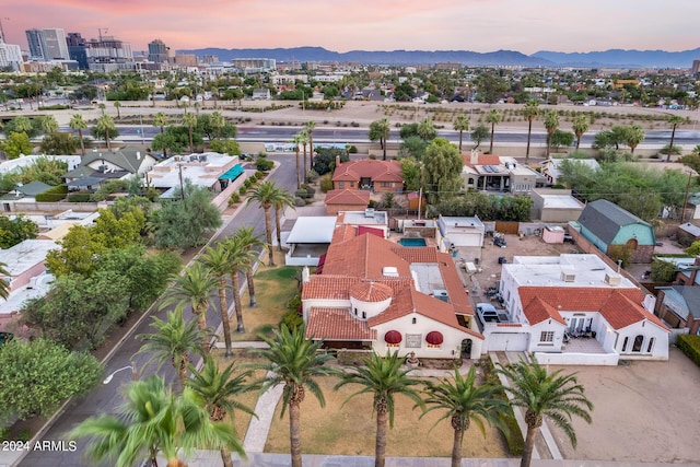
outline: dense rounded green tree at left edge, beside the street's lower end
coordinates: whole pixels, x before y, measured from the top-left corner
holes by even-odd
[[[50,417],[71,396],[100,384],[103,365],[48,339],[13,339],[0,346],[0,421]]]

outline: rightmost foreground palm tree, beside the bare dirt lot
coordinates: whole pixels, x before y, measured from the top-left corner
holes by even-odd
[[[521,467],[529,467],[535,447],[537,430],[547,417],[559,427],[576,447],[576,433],[571,425],[573,416],[591,423],[593,404],[585,397],[585,390],[579,384],[575,373],[562,374],[563,370],[549,373],[536,360],[532,363],[523,359],[517,363],[500,367],[499,372],[511,381],[505,390],[513,397],[511,405],[525,409],[527,436],[523,448]]]

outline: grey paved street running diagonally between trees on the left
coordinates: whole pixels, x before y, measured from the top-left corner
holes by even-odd
[[[293,171],[294,157],[290,157],[289,155],[271,155],[270,159],[277,160],[281,163],[280,167],[270,176],[270,179],[278,186],[293,190],[296,184]],[[235,218],[233,218],[225,225],[225,227],[221,230],[214,242],[217,240],[221,240],[231,235],[233,232],[235,232],[236,229],[243,225],[252,225],[255,229],[255,233],[265,235],[265,221],[262,219],[262,210],[259,209],[257,205],[250,205],[241,210],[235,215]],[[212,303],[218,304],[219,301],[213,300]],[[153,313],[152,315],[159,316],[164,319],[165,313],[165,311],[162,311]],[[187,312],[187,314],[189,314],[189,312]],[[192,318],[191,314],[189,314],[188,318]],[[148,360],[148,355],[141,354],[133,358],[133,354],[139,350],[140,347],[140,341],[137,340],[133,336],[139,334],[149,334],[151,331],[150,323],[150,318],[141,320],[137,326],[135,332],[124,340],[124,342],[117,349],[116,353],[109,359],[108,362],[106,362],[105,374],[109,374],[114,370],[128,366],[131,359],[133,359],[138,367],[141,369],[141,366]],[[209,326],[215,329],[221,323],[219,312],[210,310],[207,314],[207,323]],[[147,375],[153,372],[154,367],[151,366],[147,369]],[[168,382],[176,381],[176,375],[172,365],[163,365],[162,370],[159,373],[162,374]],[[72,429],[77,423],[100,412],[112,412],[121,401],[121,397],[119,394],[120,387],[124,387],[130,381],[130,377],[131,372],[120,372],[115,375],[110,384],[101,385],[83,399],[73,402],[56,420],[54,425],[44,434],[44,436],[42,436],[42,439],[51,441],[66,440],[66,432]],[[80,441],[79,443],[83,444],[84,446],[85,441]],[[82,450],[80,444],[78,451],[74,453],[32,452],[19,465],[26,467],[75,467],[81,465],[79,460],[81,453]],[[82,465],[90,464],[83,463]]]

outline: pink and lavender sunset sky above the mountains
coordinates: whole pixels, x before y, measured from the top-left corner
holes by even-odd
[[[5,42],[28,28],[114,35],[135,51],[171,48],[329,50],[687,50],[700,46],[699,0],[2,0]]]

